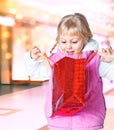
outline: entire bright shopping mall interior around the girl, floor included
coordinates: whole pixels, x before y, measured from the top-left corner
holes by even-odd
[[[99,50],[114,48],[113,0],[0,0],[0,130],[49,130],[44,114],[48,78],[26,72],[32,46],[52,48],[61,17],[83,13]],[[107,115],[103,130],[114,130],[114,82],[103,78]]]

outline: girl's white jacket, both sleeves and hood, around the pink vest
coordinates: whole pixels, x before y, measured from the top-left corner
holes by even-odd
[[[98,50],[99,44],[95,40],[91,39],[83,51],[87,50]],[[54,50],[56,52],[56,49]],[[50,78],[50,65],[47,59],[43,60],[33,60],[30,57],[30,51],[25,53],[24,56],[25,69],[30,76],[31,80],[49,80]],[[111,63],[101,62],[99,66],[99,74],[103,78],[107,78],[109,80],[114,80],[114,61]]]

